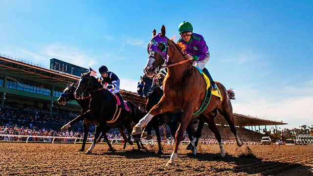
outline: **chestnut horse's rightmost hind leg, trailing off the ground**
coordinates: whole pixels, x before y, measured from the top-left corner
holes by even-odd
[[[228,105],[230,105],[230,101],[229,101]],[[230,128],[230,131],[234,134],[234,136],[236,138],[237,145],[239,147],[241,147],[243,145],[243,143],[241,142],[241,140],[237,136],[237,131],[236,131],[236,128],[235,128],[235,122],[234,122],[234,118],[233,118],[232,108],[231,107],[230,108],[226,108],[226,107],[229,107],[229,106],[224,106],[223,105],[223,108],[224,108],[223,112],[221,110],[219,110],[219,112],[226,119],[226,121],[227,121],[227,123],[229,125],[229,128]]]

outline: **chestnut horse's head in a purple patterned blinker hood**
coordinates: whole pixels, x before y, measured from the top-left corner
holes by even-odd
[[[148,61],[144,69],[147,76],[152,79],[156,69],[167,63],[167,38],[165,37],[165,27],[161,28],[161,33],[156,34],[156,29],[152,32],[153,38],[148,44]]]

